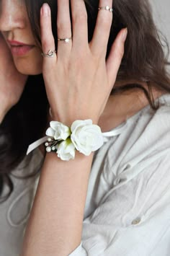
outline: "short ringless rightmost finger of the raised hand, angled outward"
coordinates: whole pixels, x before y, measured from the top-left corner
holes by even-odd
[[[127,28],[120,30],[119,34],[115,39],[115,42],[112,45],[109,57],[107,58],[107,76],[109,84],[111,86],[115,84],[117,72],[120,69],[120,64],[124,55],[125,40],[127,35]]]

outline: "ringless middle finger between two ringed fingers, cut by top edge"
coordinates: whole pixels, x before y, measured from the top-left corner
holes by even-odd
[[[71,12],[73,20],[73,47],[82,49],[88,43],[87,13],[84,0],[71,0]]]

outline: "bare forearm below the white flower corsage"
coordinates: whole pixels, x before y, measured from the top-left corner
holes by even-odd
[[[22,256],[68,255],[81,242],[91,156],[47,154],[24,235]]]

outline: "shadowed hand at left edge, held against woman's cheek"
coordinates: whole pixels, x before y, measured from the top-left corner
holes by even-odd
[[[17,71],[12,54],[0,32],[0,123],[6,112],[17,104],[24,89],[27,76]]]

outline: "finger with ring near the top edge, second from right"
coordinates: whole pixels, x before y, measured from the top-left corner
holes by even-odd
[[[99,7],[109,6],[112,9],[112,0],[100,0]],[[112,25],[112,12],[107,9],[100,9],[97,16],[97,24],[94,36],[90,43],[91,52],[96,56],[106,56],[109,32]]]

